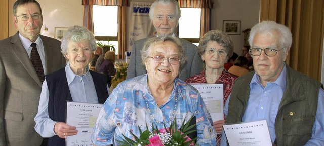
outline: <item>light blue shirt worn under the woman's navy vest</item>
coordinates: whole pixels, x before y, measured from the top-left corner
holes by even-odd
[[[92,76],[89,72],[89,67],[87,67],[86,74],[79,76],[74,74],[69,63],[67,63],[65,66],[65,75],[73,101],[98,103],[98,96]],[[107,90],[109,92],[108,85]],[[39,100],[38,113],[34,118],[36,122],[35,130],[42,137],[52,137],[56,135],[54,132],[54,125],[57,121],[53,121],[49,117],[48,103],[49,89],[45,79],[42,86],[41,99]]]

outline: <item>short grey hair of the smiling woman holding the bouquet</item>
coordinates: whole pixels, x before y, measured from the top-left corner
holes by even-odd
[[[180,70],[184,67],[184,65],[186,64],[187,57],[184,53],[182,43],[178,38],[168,36],[168,35],[152,37],[152,38],[149,38],[148,40],[146,40],[146,42],[144,43],[143,49],[141,50],[142,63],[144,66],[145,66],[146,60],[150,56],[153,46],[158,42],[167,42],[167,41],[170,41],[177,46],[177,48],[179,50]]]

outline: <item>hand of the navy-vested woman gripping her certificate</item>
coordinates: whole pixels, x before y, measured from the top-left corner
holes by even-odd
[[[72,136],[77,134],[76,127],[70,126],[63,122],[57,122],[54,125],[54,132],[60,137],[65,138],[66,136]]]

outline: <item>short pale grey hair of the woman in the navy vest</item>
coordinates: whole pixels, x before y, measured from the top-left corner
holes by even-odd
[[[91,52],[95,51],[97,49],[97,44],[95,40],[95,36],[91,31],[89,31],[87,28],[74,25],[67,29],[67,32],[65,36],[63,36],[62,44],[61,44],[61,53],[64,57],[67,54],[68,45],[69,42],[80,42],[87,40],[89,42],[89,46],[91,49]]]

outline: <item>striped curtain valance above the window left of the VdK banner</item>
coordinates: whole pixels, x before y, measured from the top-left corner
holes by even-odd
[[[82,5],[129,6],[128,0],[82,0]]]

